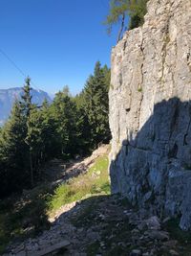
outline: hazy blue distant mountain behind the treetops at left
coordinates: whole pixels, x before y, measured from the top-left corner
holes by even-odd
[[[0,89],[0,126],[2,126],[11,114],[11,107],[15,100],[20,100],[23,91],[21,87]],[[32,103],[41,105],[47,99],[52,102],[51,97],[45,91],[32,89]]]

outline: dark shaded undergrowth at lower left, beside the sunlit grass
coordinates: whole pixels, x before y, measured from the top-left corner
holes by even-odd
[[[47,188],[39,187],[27,198],[14,196],[0,201],[0,254],[11,241],[22,241],[49,227]]]

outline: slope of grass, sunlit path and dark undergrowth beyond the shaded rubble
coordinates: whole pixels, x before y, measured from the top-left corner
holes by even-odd
[[[74,201],[109,194],[109,148],[103,145],[84,159],[53,159],[42,170],[43,182],[34,189],[0,200],[0,254],[10,242],[19,244],[49,229]]]

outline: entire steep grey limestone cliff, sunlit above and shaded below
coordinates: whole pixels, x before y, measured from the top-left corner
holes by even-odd
[[[151,0],[112,51],[113,193],[191,227],[191,0]]]

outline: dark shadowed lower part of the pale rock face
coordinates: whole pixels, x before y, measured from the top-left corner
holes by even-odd
[[[161,217],[179,216],[180,227],[189,229],[191,102],[162,101],[134,139],[129,133],[117,155],[111,153],[112,193],[122,193]],[[115,147],[113,143],[112,152]]]

